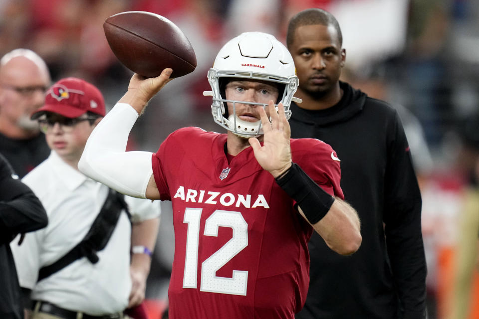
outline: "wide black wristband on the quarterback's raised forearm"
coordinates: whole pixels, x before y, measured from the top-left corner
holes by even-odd
[[[278,176],[276,183],[298,203],[311,224],[320,221],[334,202],[334,197],[319,187],[296,163]]]

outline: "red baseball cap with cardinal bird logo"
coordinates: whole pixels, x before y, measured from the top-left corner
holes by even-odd
[[[31,114],[35,120],[46,112],[77,118],[87,111],[105,116],[105,101],[100,90],[78,78],[69,77],[53,84],[45,96],[45,105]]]

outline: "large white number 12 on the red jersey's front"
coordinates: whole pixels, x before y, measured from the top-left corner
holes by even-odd
[[[202,208],[186,208],[188,224],[183,288],[197,288],[198,245]],[[238,211],[217,209],[205,222],[204,236],[218,237],[219,227],[233,229],[233,237],[201,264],[200,291],[246,296],[248,272],[233,270],[233,277],[217,277],[216,272],[248,245],[248,224]]]

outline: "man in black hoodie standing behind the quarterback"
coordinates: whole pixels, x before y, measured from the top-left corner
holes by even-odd
[[[302,99],[300,107],[291,104],[291,137],[316,138],[336,151],[341,187],[363,236],[361,248],[344,257],[313,234],[309,292],[296,318],[423,319],[421,194],[398,114],[339,81],[346,50],[329,12],[297,13],[286,41]]]

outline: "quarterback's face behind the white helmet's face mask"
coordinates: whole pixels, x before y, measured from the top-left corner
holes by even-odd
[[[279,91],[271,82],[257,80],[233,80],[226,85],[225,95],[227,100],[244,101],[267,104],[270,100],[276,102]],[[259,105],[236,103],[236,115],[243,121],[257,122]],[[228,103],[228,112],[233,114],[233,103]],[[268,110],[266,108],[266,114]]]

